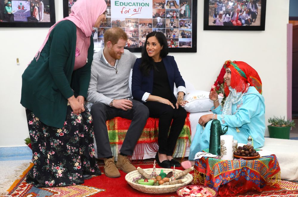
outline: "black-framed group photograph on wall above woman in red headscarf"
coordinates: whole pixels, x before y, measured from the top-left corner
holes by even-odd
[[[264,31],[266,0],[204,0],[204,30]]]

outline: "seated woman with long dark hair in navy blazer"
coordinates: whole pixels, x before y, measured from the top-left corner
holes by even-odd
[[[142,58],[136,59],[134,64],[131,84],[134,99],[148,107],[150,117],[159,118],[159,149],[155,158],[162,168],[180,166],[172,155],[186,119],[186,111],[179,105],[184,106],[187,103],[183,100],[185,82],[174,57],[167,54],[167,39],[164,34],[156,31],[149,33],[142,49]],[[178,99],[174,95],[174,83],[178,90]]]

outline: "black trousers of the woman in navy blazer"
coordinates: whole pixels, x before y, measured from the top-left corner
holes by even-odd
[[[185,109],[181,106],[179,106],[179,108],[176,109],[175,103],[173,103],[175,109],[173,109],[170,105],[155,101],[147,101],[145,105],[149,109],[150,117],[159,118],[158,152],[161,154],[172,156],[177,139],[185,123],[187,115]],[[172,119],[173,123],[170,129]],[[170,134],[168,136],[169,129]]]

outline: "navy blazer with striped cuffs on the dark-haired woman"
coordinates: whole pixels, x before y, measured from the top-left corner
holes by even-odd
[[[164,62],[164,67],[167,71],[173,101],[176,102],[177,98],[174,95],[174,83],[176,84],[176,87],[185,87],[185,82],[182,79],[182,76],[178,70],[177,63],[173,56],[166,56],[162,58],[162,61]],[[142,102],[142,97],[145,92],[151,94],[153,91],[153,69],[150,70],[149,76],[142,75],[139,69],[141,62],[142,59],[138,58],[134,63],[134,68],[132,70],[131,93],[135,100],[139,100]]]

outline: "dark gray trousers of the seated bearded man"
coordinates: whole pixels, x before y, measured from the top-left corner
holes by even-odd
[[[132,120],[126,132],[120,152],[125,155],[133,155],[134,147],[136,146],[149,117],[149,110],[139,101],[132,100],[132,103],[132,109],[127,111],[110,107],[104,103],[94,103],[91,106],[90,112],[93,118],[97,157],[105,158],[112,156],[108,128],[105,122],[117,116]]]

